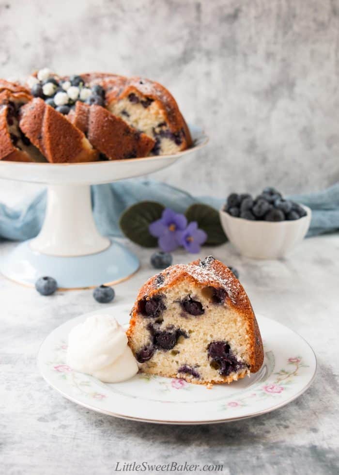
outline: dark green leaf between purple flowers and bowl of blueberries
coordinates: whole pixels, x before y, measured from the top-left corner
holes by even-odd
[[[196,204],[191,205],[185,212],[188,222],[196,221],[200,229],[207,234],[204,246],[218,246],[227,241],[221,227],[219,213],[212,206]]]

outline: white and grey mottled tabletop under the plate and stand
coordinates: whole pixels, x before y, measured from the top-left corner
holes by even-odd
[[[2,242],[0,255],[14,245]],[[115,286],[116,303],[132,302],[154,273],[151,251],[135,251],[141,269]],[[289,326],[314,348],[319,369],[308,391],[275,412],[208,426],[145,424],[91,412],[46,384],[37,371],[36,355],[55,327],[100,308],[92,292],[42,297],[0,277],[3,474],[111,475],[119,473],[118,461],[145,460],[221,463],[219,473],[232,475],[338,474],[338,234],[307,239],[279,261],[241,257],[230,244],[204,248],[200,257],[210,253],[239,270],[255,311]],[[175,253],[174,263],[189,262],[190,257]]]

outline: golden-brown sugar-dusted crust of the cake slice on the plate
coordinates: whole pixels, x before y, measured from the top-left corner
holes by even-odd
[[[159,276],[161,278],[159,279]],[[191,281],[194,284],[202,286],[213,286],[226,290],[225,303],[235,309],[247,321],[249,329],[249,364],[250,372],[256,373],[263,363],[263,346],[262,337],[259,326],[254,315],[252,305],[247,294],[240,284],[239,280],[234,276],[233,272],[222,262],[214,259],[212,256],[206,257],[203,261],[196,260],[190,264],[178,264],[160,272],[160,274],[151,277],[139,290],[137,300],[131,311],[131,319],[127,336],[129,341],[132,338],[134,327],[138,318],[138,307],[141,299],[149,299],[155,294],[166,292],[168,289],[182,281]],[[243,378],[244,375],[239,375]],[[176,375],[173,375],[175,377]],[[223,381],[209,381],[215,383],[230,382],[229,377],[225,377]],[[231,378],[232,380],[233,378]],[[193,381],[192,381],[193,382]],[[194,381],[199,383],[199,381]],[[206,384],[205,382],[203,384]]]

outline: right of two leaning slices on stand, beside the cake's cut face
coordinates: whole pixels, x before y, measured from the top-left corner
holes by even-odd
[[[82,130],[90,143],[110,160],[147,157],[154,140],[130,127],[107,109],[77,101],[67,118]]]

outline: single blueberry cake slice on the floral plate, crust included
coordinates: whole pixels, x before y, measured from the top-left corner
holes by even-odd
[[[139,291],[127,331],[144,373],[198,384],[256,373],[262,338],[246,292],[212,256],[171,266]]]

